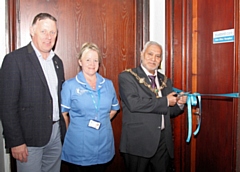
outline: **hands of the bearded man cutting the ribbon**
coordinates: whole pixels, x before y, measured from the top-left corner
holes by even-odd
[[[187,102],[187,95],[184,92],[177,94],[176,92],[171,92],[167,95],[168,105],[174,106],[176,103],[179,105],[184,105]]]

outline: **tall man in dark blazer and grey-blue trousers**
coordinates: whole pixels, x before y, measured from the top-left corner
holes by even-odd
[[[60,111],[63,63],[52,50],[56,22],[48,13],[38,14],[32,41],[7,54],[0,69],[3,134],[18,172],[60,171],[66,129]]]

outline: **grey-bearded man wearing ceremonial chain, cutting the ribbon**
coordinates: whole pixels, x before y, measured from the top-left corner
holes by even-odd
[[[119,74],[120,151],[128,172],[168,171],[174,155],[170,117],[183,112],[187,97],[176,96],[171,80],[157,71],[161,61],[161,46],[149,41],[141,52],[141,65]]]

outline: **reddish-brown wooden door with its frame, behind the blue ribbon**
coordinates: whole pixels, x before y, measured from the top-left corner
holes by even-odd
[[[166,74],[179,89],[239,92],[239,1],[166,1]],[[213,32],[235,29],[235,41],[213,44]],[[202,96],[201,129],[189,143],[187,114],[172,120],[176,171],[240,171],[239,101]],[[193,131],[197,116],[193,107]]]

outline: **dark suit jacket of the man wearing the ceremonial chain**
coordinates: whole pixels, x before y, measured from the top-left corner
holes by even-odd
[[[133,72],[150,84],[141,67],[132,69]],[[157,75],[164,81],[164,75]],[[167,81],[167,87],[162,90],[162,97],[156,95],[149,88],[140,84],[129,72],[122,72],[118,77],[119,92],[122,101],[122,135],[120,151],[146,158],[152,157],[157,150],[161,137],[162,114],[165,121],[165,138],[169,155],[173,158],[173,142],[170,117],[183,111],[178,105],[168,107],[166,96],[172,92],[172,83]]]

